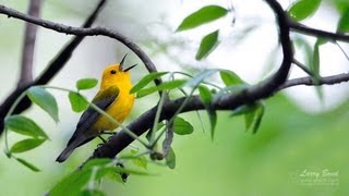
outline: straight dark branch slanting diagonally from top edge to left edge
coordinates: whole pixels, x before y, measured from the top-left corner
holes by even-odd
[[[106,0],[100,0],[97,4],[94,12],[89,15],[89,17],[84,23],[83,27],[91,27],[94,21],[97,19],[98,13],[100,12],[103,5],[105,4]],[[9,112],[11,106],[13,105],[14,100],[27,88],[34,85],[43,85],[47,84],[68,62],[71,58],[73,51],[79,46],[79,44],[83,40],[84,36],[75,36],[71,42],[69,42],[61,52],[50,62],[47,69],[43,72],[43,74],[36,78],[34,82],[24,84],[19,86],[14,89],[2,102],[0,106],[0,135],[3,131],[3,120],[5,114]],[[24,98],[20,105],[15,108],[14,113],[21,113],[22,111],[26,110],[31,106],[29,99],[26,97]]]

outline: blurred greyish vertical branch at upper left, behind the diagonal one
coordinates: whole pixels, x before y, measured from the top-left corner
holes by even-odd
[[[40,14],[41,0],[31,0],[28,15],[38,17]],[[33,81],[33,61],[37,26],[32,23],[25,24],[24,45],[22,51],[22,68],[19,86]]]

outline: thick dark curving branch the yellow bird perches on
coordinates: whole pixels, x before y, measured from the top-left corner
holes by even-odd
[[[239,106],[270,97],[287,79],[288,72],[293,59],[292,47],[289,37],[288,19],[277,1],[266,0],[266,2],[270,5],[277,16],[277,24],[279,26],[279,38],[284,53],[281,66],[270,78],[266,79],[261,85],[252,86],[233,95],[222,95],[221,97],[216,97],[212,102],[212,107],[214,110],[233,110]],[[182,105],[184,99],[185,97],[167,101],[163,107],[160,121],[171,119],[178,108]],[[203,109],[205,109],[205,107],[200,97],[193,96],[189,99],[181,113]],[[128,128],[131,130],[134,134],[141,136],[152,127],[156,110],[157,107],[154,107],[153,109],[143,113],[140,118],[130,123],[128,125]],[[113,158],[132,142],[133,138],[122,130],[117,135],[111,136],[108,143],[99,146],[89,159],[104,157]]]

